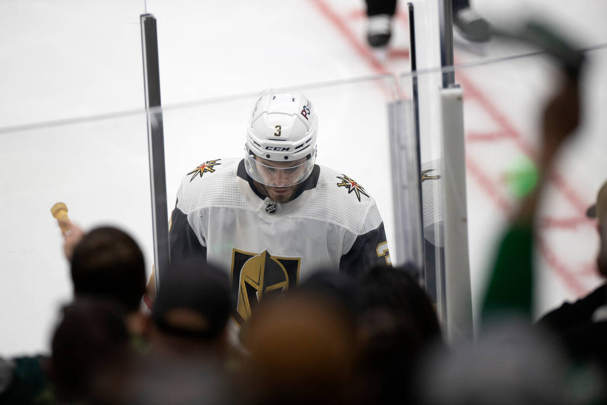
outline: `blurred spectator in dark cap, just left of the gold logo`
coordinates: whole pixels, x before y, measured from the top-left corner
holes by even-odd
[[[171,264],[160,278],[146,337],[149,352],[129,382],[129,404],[222,404],[230,400],[230,299],[225,273],[200,262]]]

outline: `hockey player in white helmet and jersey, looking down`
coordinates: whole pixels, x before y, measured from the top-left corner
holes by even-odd
[[[237,324],[263,296],[319,268],[354,276],[391,264],[375,200],[314,163],[317,132],[308,98],[266,90],[253,107],[245,157],[208,160],[181,180],[171,261],[194,257],[229,272]]]

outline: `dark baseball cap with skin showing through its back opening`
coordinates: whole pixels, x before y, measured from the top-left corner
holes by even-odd
[[[184,260],[160,277],[152,319],[165,333],[211,340],[222,333],[229,311],[228,276],[200,260]]]

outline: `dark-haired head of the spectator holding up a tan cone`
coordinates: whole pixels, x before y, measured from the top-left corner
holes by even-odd
[[[135,311],[146,291],[143,253],[124,231],[95,228],[74,248],[72,281],[76,296],[115,299]]]

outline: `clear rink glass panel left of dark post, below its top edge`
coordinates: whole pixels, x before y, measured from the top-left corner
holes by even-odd
[[[47,350],[59,306],[72,298],[56,202],[85,231],[118,226],[151,267],[148,138],[143,113],[0,134],[3,354]],[[149,272],[149,270],[148,270]]]

